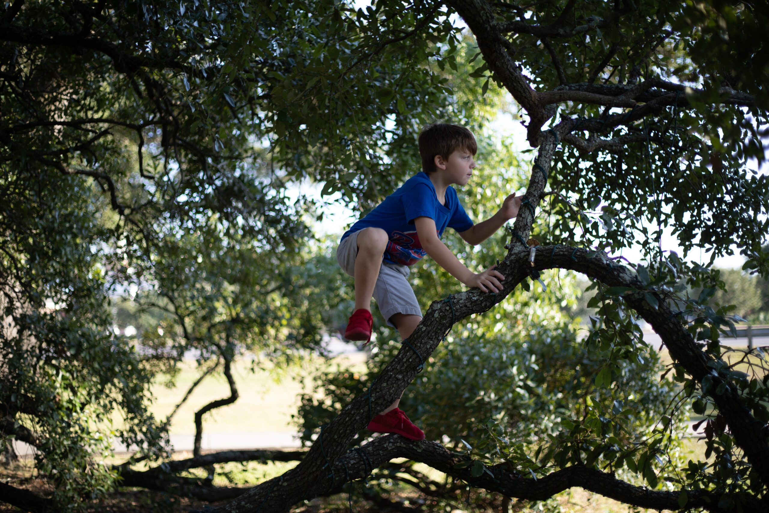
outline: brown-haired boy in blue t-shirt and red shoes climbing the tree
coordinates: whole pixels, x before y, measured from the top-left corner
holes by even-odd
[[[342,235],[337,249],[339,265],[355,278],[355,311],[345,337],[371,341],[371,296],[388,325],[398,329],[404,341],[422,320],[421,309],[408,283],[409,266],[430,255],[438,265],[470,288],[498,292],[504,276],[492,265],[474,273],[449,250],[441,235],[454,228],[465,242],[476,245],[518,215],[521,198],[504,199],[491,218],[475,225],[464,212],[452,185],[469,182],[478,152],[472,133],[458,125],[436,123],[419,135],[422,171],[384,198],[374,210]],[[408,342],[407,342],[408,343]],[[368,429],[397,433],[421,440],[424,433],[398,408],[400,398],[376,415]]]

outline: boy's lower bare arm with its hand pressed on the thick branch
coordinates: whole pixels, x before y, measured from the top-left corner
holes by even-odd
[[[454,253],[451,252],[446,245],[438,238],[438,232],[435,229],[435,222],[432,218],[419,217],[414,219],[414,225],[417,228],[417,235],[419,236],[419,242],[421,242],[422,248],[431,258],[444,268],[454,278],[464,283],[470,288],[480,288],[484,292],[501,291],[502,285],[500,280],[504,280],[504,276],[499,271],[494,271],[496,265],[492,265],[480,273],[474,273],[470,269],[466,268],[461,261],[458,260]]]

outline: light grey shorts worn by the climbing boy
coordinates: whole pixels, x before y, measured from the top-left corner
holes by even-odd
[[[337,248],[337,261],[341,268],[355,278],[355,257],[358,255],[358,234],[354,232],[339,243]],[[395,314],[419,315],[417,296],[411,284],[408,283],[408,275],[411,270],[408,265],[391,264],[382,261],[379,268],[379,276],[374,286],[374,298],[377,300],[379,311],[388,325],[396,326],[390,321]]]

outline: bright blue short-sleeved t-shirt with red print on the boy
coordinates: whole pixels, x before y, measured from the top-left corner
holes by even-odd
[[[341,236],[341,240],[351,233],[373,226],[382,228],[388,234],[388,245],[384,250],[384,261],[391,264],[412,265],[427,254],[422,249],[414,226],[414,219],[428,217],[435,222],[438,238],[446,227],[464,232],[473,227],[473,222],[464,212],[457,192],[449,186],[445,194],[446,205],[438,202],[438,195],[430,178],[424,172],[409,178],[397,191],[393,192],[377,207],[368,212],[365,218]]]

